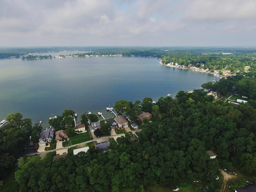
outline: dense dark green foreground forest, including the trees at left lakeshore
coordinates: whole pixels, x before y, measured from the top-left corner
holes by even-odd
[[[237,75],[203,86],[236,91],[248,96],[248,103],[225,103],[208,96],[204,89],[193,93],[180,91],[176,99],[161,97],[157,103],[148,102],[152,99],[147,97],[135,103],[117,101],[115,107],[129,104],[120,113],[153,114],[151,121],[144,119],[139,138],[126,133],[118,139],[119,145],[110,140],[110,150],[104,153],[90,147],[87,153],[68,154],[56,163],[39,156],[20,158],[15,172],[19,191],[141,192],[148,185],[170,189],[179,186],[182,190],[193,188],[194,181],[200,180],[203,189],[207,186],[210,192],[217,192],[222,186],[219,168],[235,168],[253,176],[256,100],[251,92],[256,90],[255,79]],[[7,120],[11,123],[0,129],[2,176],[17,162],[25,138],[38,131],[38,125],[32,127],[31,121],[22,120],[21,114],[9,114]],[[217,159],[210,159],[207,150],[213,150]],[[220,179],[216,180],[218,176]],[[256,182],[253,178],[252,182]]]

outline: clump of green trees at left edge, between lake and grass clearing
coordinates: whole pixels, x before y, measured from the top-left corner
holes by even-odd
[[[6,120],[8,123],[0,128],[0,181],[9,174],[30,140],[38,143],[42,129],[38,123],[32,126],[31,119],[22,119],[20,113],[8,114]]]

